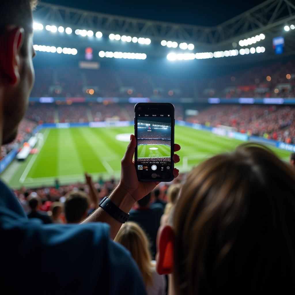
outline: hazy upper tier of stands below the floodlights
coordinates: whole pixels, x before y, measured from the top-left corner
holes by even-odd
[[[32,97],[294,97],[295,61],[231,72],[218,78],[179,78],[143,70],[37,68]]]

